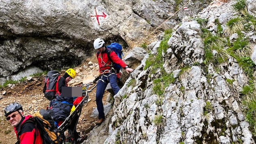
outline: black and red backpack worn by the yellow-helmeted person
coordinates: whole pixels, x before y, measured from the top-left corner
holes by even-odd
[[[56,95],[60,95],[58,88],[60,77],[60,73],[57,70],[49,71],[44,77],[43,93],[48,100],[53,100]]]

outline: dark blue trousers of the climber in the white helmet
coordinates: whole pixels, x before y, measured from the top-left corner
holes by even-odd
[[[105,118],[102,97],[108,83],[110,83],[110,86],[114,91],[114,94],[117,94],[118,91],[120,90],[120,88],[117,85],[117,74],[108,73],[108,74],[101,75],[100,79],[98,80],[97,89],[96,89],[96,104],[99,112],[99,119]]]

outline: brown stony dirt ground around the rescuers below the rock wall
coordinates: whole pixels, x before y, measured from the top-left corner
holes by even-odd
[[[81,64],[81,66],[84,65],[87,65],[87,63]],[[98,73],[97,68],[95,67],[95,73]],[[76,70],[76,68],[74,69]],[[35,111],[42,108],[46,109],[50,101],[43,96],[43,85],[43,76],[36,76],[33,77],[32,80],[22,82],[14,87],[0,88],[0,92],[5,93],[4,95],[0,95],[0,98],[2,97],[0,99],[0,144],[14,144],[17,141],[13,127],[11,127],[9,122],[5,119],[3,111],[5,106],[12,102],[18,102],[22,104],[25,115],[33,114]],[[90,117],[91,112],[96,107],[95,90],[96,89],[93,89],[93,91],[89,93],[89,99],[91,100],[83,106],[82,114],[77,124],[77,131],[80,132],[81,135],[88,133],[88,128],[97,120],[96,118]],[[109,93],[105,91],[103,103],[106,103],[108,94]]]

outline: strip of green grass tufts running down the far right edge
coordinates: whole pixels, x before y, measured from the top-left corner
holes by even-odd
[[[243,68],[243,71],[248,77],[248,84],[245,85],[240,91],[240,95],[243,96],[243,105],[247,107],[246,121],[250,124],[249,129],[252,131],[253,135],[256,136],[256,93],[254,92],[254,72],[256,70],[256,66],[252,59],[249,57],[252,54],[252,46],[249,44],[249,40],[245,38],[245,36],[240,32],[241,30],[245,30],[247,32],[254,31],[256,29],[256,22],[255,17],[249,15],[247,12],[246,1],[236,1],[236,4],[233,6],[234,9],[241,13],[241,17],[231,19],[229,21],[229,25],[232,25],[231,27],[233,29],[230,33],[238,33],[239,38],[237,38],[237,40],[231,44],[228,51],[230,51],[230,55],[239,62],[239,66]],[[244,23],[247,24],[244,25]],[[239,140],[239,143],[242,143],[242,141]]]

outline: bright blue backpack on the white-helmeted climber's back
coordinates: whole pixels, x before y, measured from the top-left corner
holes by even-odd
[[[106,48],[110,49],[111,51],[115,51],[115,53],[117,54],[117,56],[122,59],[122,56],[124,56],[123,52],[122,52],[122,46],[121,44],[117,43],[117,42],[113,42],[110,45],[106,46]],[[108,53],[108,59],[110,59],[112,61],[112,59],[109,56]],[[115,70],[117,71],[117,73],[119,73],[119,71],[121,70],[121,66],[119,64],[116,64],[112,61],[113,64],[113,68],[115,68]]]

